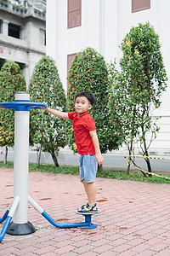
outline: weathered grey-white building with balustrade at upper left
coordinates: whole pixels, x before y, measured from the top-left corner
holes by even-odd
[[[44,0],[0,0],[0,68],[14,61],[29,84],[33,68],[46,53],[46,4]]]

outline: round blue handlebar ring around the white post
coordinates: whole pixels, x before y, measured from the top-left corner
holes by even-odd
[[[1,102],[0,108],[13,108],[14,111],[30,111],[31,108],[46,108],[47,105],[43,103],[36,103],[30,101],[14,101]]]

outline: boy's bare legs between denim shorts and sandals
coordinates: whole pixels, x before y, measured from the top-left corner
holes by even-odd
[[[86,194],[88,195],[88,204],[93,206],[96,200],[96,183],[87,183],[84,179],[82,180]]]

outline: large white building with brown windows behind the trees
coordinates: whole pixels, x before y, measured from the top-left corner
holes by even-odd
[[[119,45],[132,26],[150,21],[160,35],[161,53],[170,73],[169,0],[47,0],[47,55],[56,61],[64,88],[74,55],[92,47],[105,61],[120,60]],[[161,130],[150,153],[170,153],[170,86],[162,96]]]

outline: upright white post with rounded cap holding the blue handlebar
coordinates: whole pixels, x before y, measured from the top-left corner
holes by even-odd
[[[26,92],[15,94],[15,101],[29,101]],[[14,198],[20,203],[14,212],[14,224],[28,221],[28,163],[29,163],[29,119],[30,111],[14,112]]]

